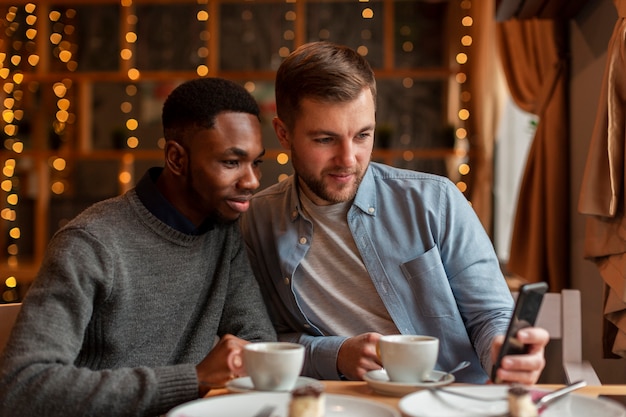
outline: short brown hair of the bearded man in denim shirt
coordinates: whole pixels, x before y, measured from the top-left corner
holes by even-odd
[[[293,128],[300,102],[356,99],[369,88],[376,104],[376,79],[369,63],[355,50],[331,42],[311,42],[293,51],[276,73],[276,113]]]

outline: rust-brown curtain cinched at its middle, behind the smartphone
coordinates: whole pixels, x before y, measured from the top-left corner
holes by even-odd
[[[498,23],[500,59],[509,90],[539,116],[520,185],[508,268],[550,291],[569,283],[569,144],[567,21]]]

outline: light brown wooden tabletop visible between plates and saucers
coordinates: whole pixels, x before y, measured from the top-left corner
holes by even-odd
[[[329,394],[341,394],[350,395],[353,397],[366,398],[368,400],[387,404],[396,410],[400,411],[398,403],[401,397],[388,397],[380,395],[374,392],[367,382],[364,381],[320,381],[324,384],[326,392]],[[461,384],[453,384],[453,386],[459,386]],[[554,390],[562,387],[563,385],[537,385],[539,389]],[[576,391],[577,394],[588,395],[591,397],[598,397],[599,395],[625,395],[626,385],[600,385],[600,386],[587,386]],[[214,397],[218,395],[231,394],[227,389],[211,390],[207,397]]]

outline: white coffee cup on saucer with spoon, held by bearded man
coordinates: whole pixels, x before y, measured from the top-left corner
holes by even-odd
[[[381,336],[378,354],[390,381],[421,382],[429,379],[435,368],[439,339],[421,335]]]

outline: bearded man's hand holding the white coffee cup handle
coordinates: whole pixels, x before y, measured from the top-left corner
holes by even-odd
[[[337,369],[350,380],[362,380],[369,371],[382,368],[377,353],[380,333],[363,333],[347,339],[339,348]]]

